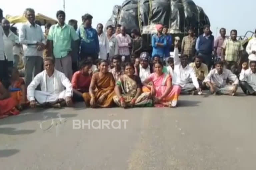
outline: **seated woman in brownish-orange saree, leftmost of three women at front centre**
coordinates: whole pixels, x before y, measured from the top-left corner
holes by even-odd
[[[89,93],[83,93],[85,104],[92,108],[111,107],[115,94],[114,88],[115,79],[112,73],[108,72],[108,61],[101,60],[99,62],[99,72],[94,73],[92,76]]]

